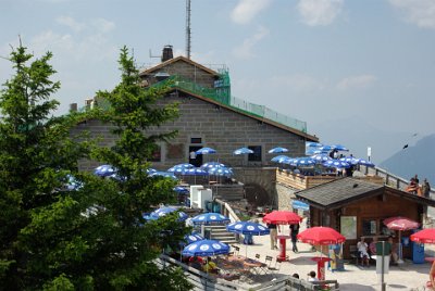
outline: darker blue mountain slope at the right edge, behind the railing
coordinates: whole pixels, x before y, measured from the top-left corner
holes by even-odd
[[[420,182],[427,178],[435,188],[435,134],[400,150],[378,166],[406,179],[418,174]]]

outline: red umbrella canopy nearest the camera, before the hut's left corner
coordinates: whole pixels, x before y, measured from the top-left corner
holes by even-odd
[[[307,228],[297,238],[301,242],[314,245],[337,244],[346,241],[346,238],[337,230],[323,226]]]

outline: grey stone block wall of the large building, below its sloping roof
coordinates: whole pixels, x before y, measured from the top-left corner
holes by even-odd
[[[221,106],[208,103],[192,97],[166,97],[160,102],[178,102],[181,116],[175,122],[166,123],[160,127],[152,127],[146,134],[167,132],[174,129],[178,136],[170,143],[161,144],[161,162],[153,163],[158,169],[187,163],[189,160],[189,146],[210,147],[217,151],[216,154],[204,155],[203,162],[219,161],[228,166],[268,166],[273,165],[270,160],[276,154],[268,151],[275,147],[289,150],[289,156],[300,156],[304,153],[302,137],[284,129],[260,124],[248,116],[235,113]],[[88,130],[92,137],[101,139],[101,146],[112,146],[115,137],[110,132],[111,125],[99,121],[88,121],[76,128],[76,131]],[[190,138],[201,138],[202,143],[190,144]],[[248,146],[262,147],[262,161],[248,162],[247,155],[233,155],[233,151]],[[83,165],[85,168],[94,164]]]

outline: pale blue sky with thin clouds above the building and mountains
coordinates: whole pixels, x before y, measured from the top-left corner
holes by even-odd
[[[60,113],[117,84],[124,45],[139,65],[164,45],[186,54],[185,0],[0,0],[0,56],[17,35],[53,52]],[[347,119],[434,134],[434,52],[435,0],[191,0],[191,59],[225,64],[234,96],[321,139],[319,125]],[[10,74],[0,59],[0,81]]]

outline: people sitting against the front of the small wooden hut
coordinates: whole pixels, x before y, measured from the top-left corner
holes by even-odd
[[[373,237],[373,240],[372,242],[370,242],[369,245],[364,241],[364,237],[361,237],[360,241],[357,243],[358,257],[361,262],[361,266],[370,267],[370,260],[376,255],[376,243],[377,243],[377,237]],[[397,265],[399,260],[399,254],[397,244],[394,242],[391,236],[388,237],[386,243],[388,243],[386,250],[389,251],[390,264]]]

